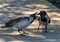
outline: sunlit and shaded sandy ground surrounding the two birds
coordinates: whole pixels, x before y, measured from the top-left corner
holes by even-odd
[[[0,0],[0,26],[39,10],[45,10],[51,18],[48,33],[37,31],[38,21],[35,20],[24,29],[26,36],[20,36],[16,28],[0,28],[0,42],[60,42],[60,9],[46,0]]]

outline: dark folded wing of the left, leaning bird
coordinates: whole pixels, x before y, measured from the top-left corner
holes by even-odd
[[[13,26],[14,24],[16,24],[16,23],[18,23],[18,22],[24,21],[24,20],[26,20],[26,19],[29,20],[28,18],[29,18],[29,17],[19,17],[19,18],[16,18],[16,19],[12,19],[12,20],[6,22],[5,25],[6,25],[7,27],[11,27],[11,26]]]

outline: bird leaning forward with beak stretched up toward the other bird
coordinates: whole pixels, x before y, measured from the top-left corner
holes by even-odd
[[[6,22],[5,26],[2,26],[1,28],[17,27],[18,32],[20,34],[23,34],[24,31],[22,29],[29,26],[37,18],[36,14],[37,14],[37,12],[35,12],[34,14],[31,14],[28,17],[19,17],[19,18],[16,18],[16,19],[12,19],[12,20]]]

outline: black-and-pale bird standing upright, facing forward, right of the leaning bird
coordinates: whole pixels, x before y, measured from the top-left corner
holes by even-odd
[[[41,10],[38,15],[40,15],[40,17],[38,18],[38,21],[39,21],[38,30],[39,30],[40,25],[43,24],[45,26],[44,32],[47,32],[47,26],[51,21],[50,17],[44,10]]]

